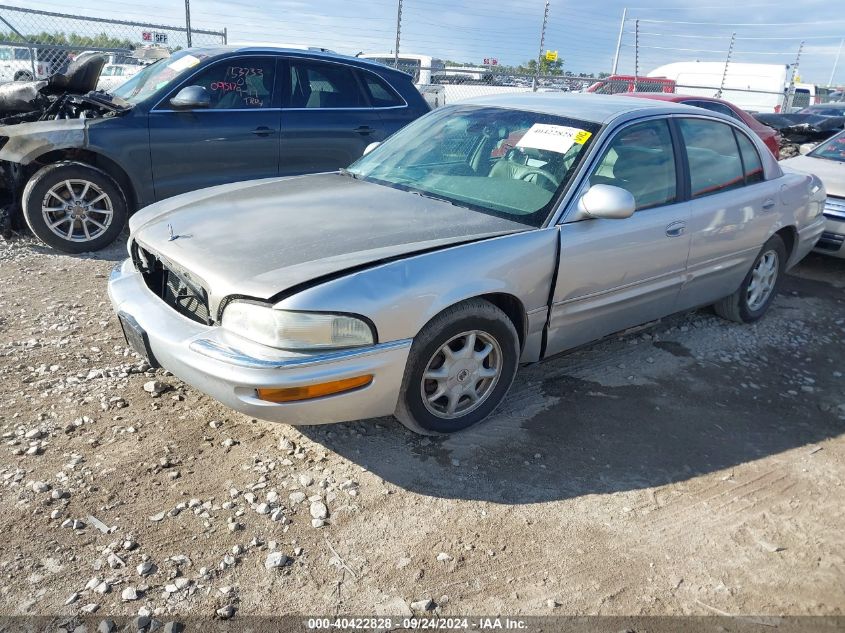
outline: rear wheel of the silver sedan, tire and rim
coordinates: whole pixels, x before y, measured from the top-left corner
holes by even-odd
[[[737,323],[753,323],[761,319],[780,289],[787,256],[780,236],[770,237],[739,289],[714,304],[716,314]]]

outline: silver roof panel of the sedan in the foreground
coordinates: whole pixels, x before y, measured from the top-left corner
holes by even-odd
[[[616,119],[635,118],[638,114],[701,114],[701,108],[652,99],[627,99],[617,95],[570,92],[517,92],[487,95],[458,103],[489,105],[567,116],[593,123],[609,123]],[[713,118],[730,120],[717,112],[707,111]]]

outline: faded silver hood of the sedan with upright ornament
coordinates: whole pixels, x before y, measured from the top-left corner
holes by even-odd
[[[212,310],[229,295],[269,299],[351,268],[531,229],[340,173],[183,194],[129,226],[139,245],[203,284]]]

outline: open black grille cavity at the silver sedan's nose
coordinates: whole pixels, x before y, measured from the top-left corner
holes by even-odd
[[[211,325],[208,293],[184,275],[171,270],[147,250],[133,245],[135,267],[144,277],[147,287],[179,314],[192,321]]]

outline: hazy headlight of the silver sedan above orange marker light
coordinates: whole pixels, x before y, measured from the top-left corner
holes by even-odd
[[[372,328],[362,319],[326,312],[275,310],[245,301],[227,305],[221,325],[251,341],[278,349],[343,349],[375,342]]]

